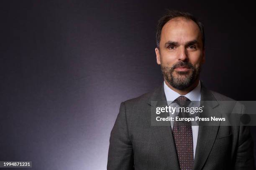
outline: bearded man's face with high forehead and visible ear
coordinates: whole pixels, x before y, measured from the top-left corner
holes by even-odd
[[[184,90],[198,80],[205,62],[202,46],[201,32],[194,21],[173,18],[164,25],[159,49],[155,49],[156,61],[172,87]]]

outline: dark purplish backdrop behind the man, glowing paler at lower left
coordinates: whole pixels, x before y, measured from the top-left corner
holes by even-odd
[[[246,1],[17,0],[0,8],[0,160],[105,170],[120,102],[163,82],[154,48],[166,8],[204,23],[205,86],[255,100],[256,11]]]

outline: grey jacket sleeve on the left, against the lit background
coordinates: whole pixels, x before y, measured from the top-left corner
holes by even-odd
[[[110,134],[107,170],[133,169],[133,146],[128,135],[125,104],[122,102]]]

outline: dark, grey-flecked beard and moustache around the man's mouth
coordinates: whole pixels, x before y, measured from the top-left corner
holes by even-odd
[[[174,68],[184,66],[189,67],[192,72],[179,72],[176,71],[174,76]],[[178,90],[184,90],[190,87],[200,75],[201,66],[194,67],[190,62],[177,62],[172,67],[166,67],[161,65],[161,71],[165,80],[174,88]]]

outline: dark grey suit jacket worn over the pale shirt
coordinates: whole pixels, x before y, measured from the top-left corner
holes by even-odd
[[[151,126],[151,101],[166,101],[164,87],[122,102],[110,135],[108,170],[179,170],[171,126]],[[243,105],[201,86],[201,100],[212,116],[226,117]],[[156,104],[157,105],[157,104]],[[255,170],[247,126],[200,126],[194,170]]]

